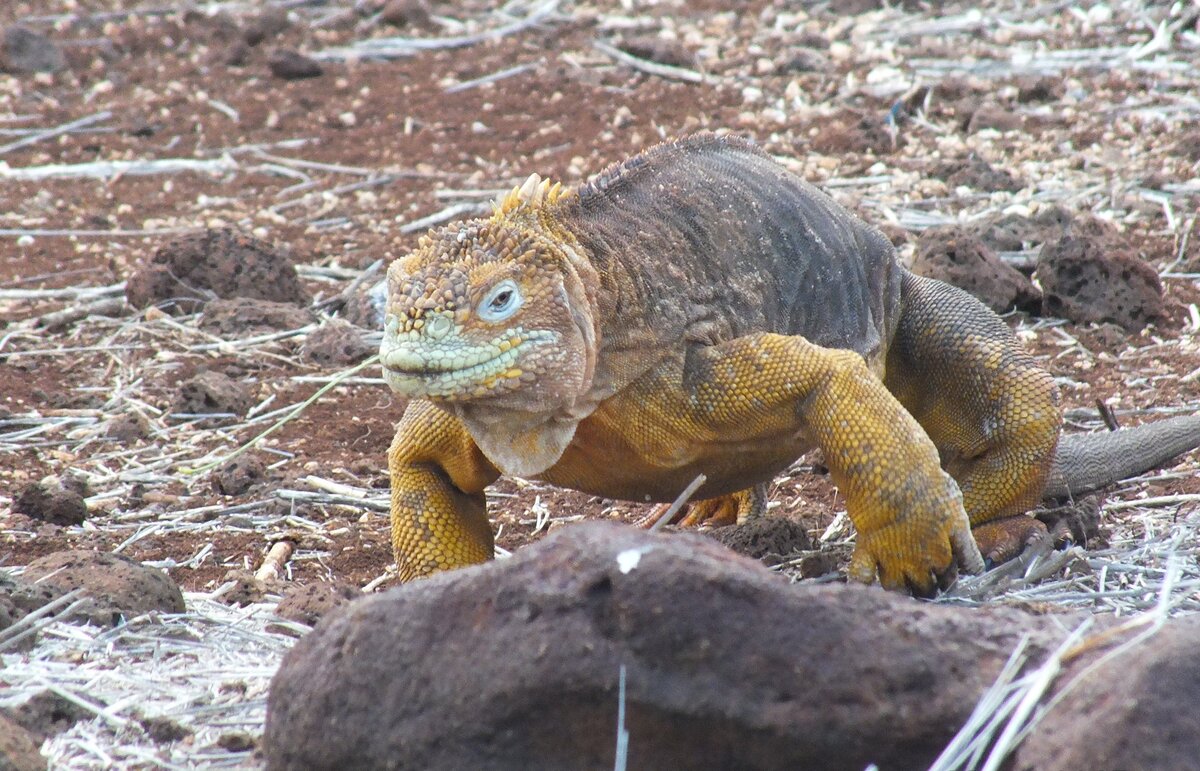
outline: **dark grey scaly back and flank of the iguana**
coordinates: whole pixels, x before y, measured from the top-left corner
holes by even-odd
[[[660,339],[775,331],[870,354],[895,324],[892,244],[742,139],[647,150],[584,185],[564,223],[618,291],[618,323]]]

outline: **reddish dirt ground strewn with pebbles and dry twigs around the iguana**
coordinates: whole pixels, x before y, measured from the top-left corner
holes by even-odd
[[[319,304],[356,271],[410,249],[424,228],[408,223],[486,211],[532,172],[580,183],[701,128],[754,138],[884,227],[905,258],[925,227],[1001,213],[1058,204],[1111,222],[1162,276],[1166,318],[1133,334],[1020,313],[1008,321],[1058,378],[1072,428],[1098,428],[1097,402],[1122,423],[1200,410],[1195,4],[994,1],[977,12],[979,4],[881,10],[864,0],[841,13],[830,10],[841,4],[764,0],[503,11],[479,1],[150,5],[0,8],[0,28],[19,22],[65,56],[53,74],[0,74],[0,564],[70,546],[120,549],[167,567],[185,590],[211,591],[287,536],[298,542],[294,581],[364,586],[384,576],[385,514],[317,495],[386,492],[384,453],[400,406],[377,372],[336,387],[272,434],[253,453],[262,477],[222,495],[211,474],[186,470],[270,422],[181,413],[180,384],[223,372],[262,416],[311,396],[344,365],[302,355],[306,334],[212,345],[221,341],[196,315],[127,305],[64,324],[47,315],[121,297],[88,288],[124,281],[180,232],[223,226],[287,246]],[[476,35],[486,40],[444,42]],[[346,54],[396,36],[408,41],[406,55]],[[419,49],[413,40],[443,42]],[[312,55],[322,73],[272,73],[284,49]],[[82,119],[92,120],[11,148],[30,131]],[[1012,173],[1015,189],[948,181],[972,157]],[[83,163],[167,159],[208,166],[79,175]],[[12,173],[49,165],[71,169]],[[110,430],[122,416],[139,428]],[[1195,464],[1112,498],[1200,492]],[[72,472],[88,480],[83,526],[13,512],[30,483]],[[294,503],[288,490],[317,497]],[[510,550],[545,532],[546,518],[646,513],[515,480],[494,492],[498,544]],[[779,479],[772,502],[814,534],[842,508],[811,465]],[[1188,506],[1156,516],[1187,515]],[[1156,525],[1126,509],[1106,527],[1136,538]]]

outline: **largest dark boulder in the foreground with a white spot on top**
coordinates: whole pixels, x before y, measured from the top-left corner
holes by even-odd
[[[1025,633],[1034,659],[1066,636],[589,522],[331,614],[263,743],[275,770],[611,769],[624,669],[631,767],[926,767]]]

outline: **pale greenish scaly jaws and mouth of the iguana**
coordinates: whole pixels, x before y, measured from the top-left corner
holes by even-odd
[[[401,329],[395,316],[388,318],[379,360],[388,386],[408,399],[469,401],[508,393],[533,378],[520,366],[530,349],[552,343],[551,330],[509,329],[491,340],[466,340],[461,330],[449,329],[440,340],[425,330]]]

